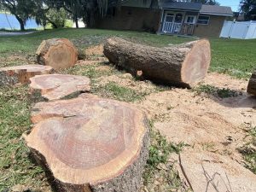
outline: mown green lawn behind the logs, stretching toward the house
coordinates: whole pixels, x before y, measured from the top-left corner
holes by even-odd
[[[69,38],[84,48],[90,44],[99,44],[103,39],[119,36],[134,42],[150,44],[153,46],[167,46],[168,44],[179,44],[193,38],[181,38],[173,36],[155,35],[146,32],[122,32],[95,29],[64,29],[36,32],[20,37],[0,37],[0,55],[6,57],[13,54],[34,54],[43,39]],[[212,44],[211,71],[228,73],[237,78],[248,78],[256,67],[256,39],[210,39]],[[17,65],[19,62],[5,63],[0,60],[0,67]],[[22,64],[22,63],[21,63]]]

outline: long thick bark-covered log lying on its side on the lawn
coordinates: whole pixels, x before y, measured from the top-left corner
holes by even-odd
[[[110,62],[133,75],[142,71],[146,79],[184,87],[204,79],[211,61],[210,44],[206,39],[155,48],[109,38],[104,54]]]

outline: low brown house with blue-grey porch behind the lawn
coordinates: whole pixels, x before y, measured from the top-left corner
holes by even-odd
[[[219,37],[229,17],[233,17],[230,7],[165,1],[159,9],[151,9],[150,3],[131,0],[120,9],[109,10],[106,18],[96,20],[96,27]]]

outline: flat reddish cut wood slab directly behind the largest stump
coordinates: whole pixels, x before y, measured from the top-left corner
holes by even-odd
[[[30,79],[32,99],[53,101],[90,91],[90,79],[69,74],[37,75]]]

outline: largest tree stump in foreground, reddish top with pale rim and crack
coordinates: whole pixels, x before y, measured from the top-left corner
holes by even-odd
[[[84,96],[85,95],[85,96]],[[148,122],[125,102],[84,94],[41,102],[26,136],[60,192],[139,191],[148,158]]]

